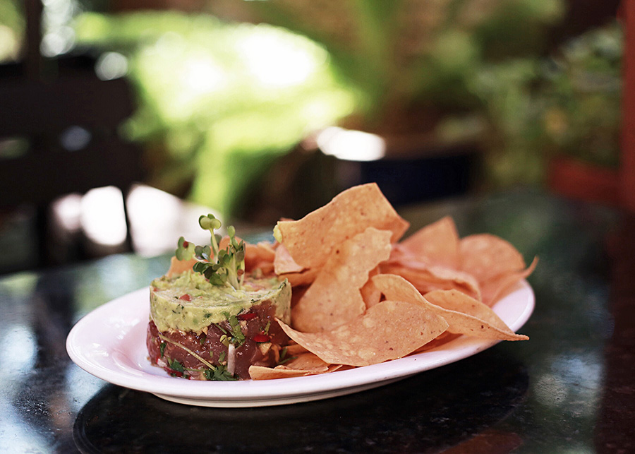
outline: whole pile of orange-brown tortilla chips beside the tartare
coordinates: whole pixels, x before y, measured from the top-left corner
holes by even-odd
[[[248,246],[248,268],[293,287],[294,342],[284,364],[251,378],[322,374],[420,352],[458,335],[526,340],[491,306],[533,271],[507,241],[459,238],[449,217],[409,228],[376,184],[355,186],[301,220],[274,229],[277,244]]]

